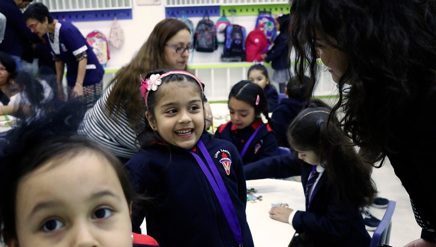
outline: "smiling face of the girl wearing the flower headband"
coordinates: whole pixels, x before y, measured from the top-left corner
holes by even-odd
[[[193,82],[171,81],[159,86],[154,112],[145,116],[166,143],[191,149],[204,129],[204,113],[199,89]]]

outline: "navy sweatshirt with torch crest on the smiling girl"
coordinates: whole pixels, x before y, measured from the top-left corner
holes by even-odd
[[[232,143],[212,139],[210,134],[203,134],[201,140],[233,203],[243,245],[252,247],[245,214],[246,183],[239,153]],[[197,146],[192,152],[208,167]],[[223,158],[226,162],[230,160],[230,170],[225,169],[224,161],[221,163]],[[147,234],[161,247],[237,246],[218,198],[189,150],[156,143],[146,150],[141,149],[125,166],[136,192],[152,200],[152,205],[133,206],[133,232],[140,232],[145,216]]]

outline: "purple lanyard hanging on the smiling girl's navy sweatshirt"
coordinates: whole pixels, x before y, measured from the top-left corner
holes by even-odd
[[[229,223],[230,229],[233,232],[234,239],[238,243],[239,247],[242,247],[243,245],[242,245],[241,226],[239,225],[236,212],[234,211],[234,207],[232,204],[232,200],[230,199],[229,192],[227,191],[226,186],[222,181],[221,175],[219,175],[217,167],[215,166],[212,158],[210,157],[210,154],[207,152],[206,147],[204,146],[201,139],[198,140],[197,146],[202,152],[204,158],[206,159],[207,164],[209,165],[209,168],[213,173],[213,176],[210,173],[210,171],[207,169],[202,159],[197,154],[194,154],[193,152],[190,153],[197,160],[197,163],[200,165],[200,168],[202,169],[207,180],[209,181],[209,184],[212,186],[215,195],[217,195],[219,204],[221,204],[222,211],[224,212],[227,222]]]

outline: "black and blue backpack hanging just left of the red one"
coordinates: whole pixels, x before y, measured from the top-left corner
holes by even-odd
[[[221,56],[223,62],[241,62],[245,60],[245,28],[231,24],[226,27],[226,39]]]

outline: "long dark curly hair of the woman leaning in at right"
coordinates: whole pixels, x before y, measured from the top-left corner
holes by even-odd
[[[332,115],[343,107],[344,132],[368,162],[382,160],[383,165],[386,154],[396,152],[395,143],[401,143],[401,130],[393,126],[418,106],[418,99],[435,93],[436,63],[430,61],[436,61],[436,1],[291,0],[291,4],[296,75],[302,79],[309,72],[313,92],[320,69],[316,38],[343,52],[348,66],[338,82],[339,100]],[[315,31],[322,37],[315,37]],[[327,35],[338,45],[331,44]]]

